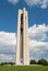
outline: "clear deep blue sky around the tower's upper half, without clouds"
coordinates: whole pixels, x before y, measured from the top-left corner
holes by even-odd
[[[14,4],[8,0],[0,0],[0,31],[16,32],[17,11],[23,7],[28,11],[29,26],[41,23],[48,24],[48,8],[41,9],[35,4],[28,7],[24,0],[19,0]]]

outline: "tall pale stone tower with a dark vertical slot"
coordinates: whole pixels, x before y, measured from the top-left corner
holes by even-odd
[[[25,8],[19,10],[16,64],[29,64],[28,14]]]

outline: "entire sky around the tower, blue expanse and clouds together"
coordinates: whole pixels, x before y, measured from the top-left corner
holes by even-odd
[[[15,61],[13,58],[16,46],[17,11],[24,7],[28,11],[31,59],[48,60],[48,0],[0,0],[0,62]]]

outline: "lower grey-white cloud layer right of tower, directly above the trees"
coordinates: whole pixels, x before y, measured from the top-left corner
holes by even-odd
[[[31,59],[38,60],[40,58],[48,59],[48,43],[32,42],[29,44]]]

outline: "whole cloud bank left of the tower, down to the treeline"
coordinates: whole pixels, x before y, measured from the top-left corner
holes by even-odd
[[[16,34],[0,32],[0,62],[15,61]]]

